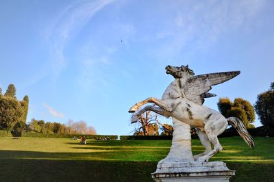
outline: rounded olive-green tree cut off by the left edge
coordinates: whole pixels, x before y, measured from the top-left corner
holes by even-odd
[[[23,109],[14,98],[1,96],[0,99],[0,127],[7,132],[12,131],[16,123],[21,121]]]

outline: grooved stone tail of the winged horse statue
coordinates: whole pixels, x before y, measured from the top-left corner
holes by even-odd
[[[245,125],[236,117],[227,118],[227,122],[236,129],[240,135],[240,137],[245,140],[245,142],[252,148],[255,148],[254,140],[251,135],[248,133]]]

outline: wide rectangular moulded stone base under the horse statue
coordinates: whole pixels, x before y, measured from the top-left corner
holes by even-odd
[[[160,161],[154,181],[227,181],[235,175],[222,161]]]

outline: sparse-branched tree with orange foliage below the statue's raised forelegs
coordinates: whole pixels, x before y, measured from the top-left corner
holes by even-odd
[[[148,111],[139,116],[138,124],[140,125],[140,127],[136,129],[134,135],[159,135],[157,116],[153,117],[150,115],[150,113],[151,112]]]

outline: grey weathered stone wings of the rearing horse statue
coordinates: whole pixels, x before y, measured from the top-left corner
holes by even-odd
[[[223,83],[240,74],[240,71],[209,73],[204,75],[197,75],[186,80],[184,87],[184,94],[186,98],[194,103],[202,105],[204,98],[216,96],[216,94],[208,93],[211,86]]]

